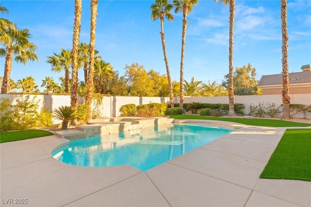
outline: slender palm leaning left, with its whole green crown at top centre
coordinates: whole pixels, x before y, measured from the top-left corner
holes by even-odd
[[[170,96],[171,107],[174,106],[173,84],[172,84],[171,72],[170,72],[170,67],[169,67],[169,60],[167,58],[167,53],[166,53],[163,24],[164,24],[164,17],[166,17],[166,19],[169,21],[174,20],[174,16],[171,14],[172,9],[173,9],[173,5],[169,3],[169,0],[155,0],[155,3],[151,5],[151,10],[152,10],[151,18],[153,20],[160,18],[160,24],[161,24],[160,35],[161,35],[161,40],[162,40],[162,49],[163,49],[163,55],[164,55],[164,62],[166,66],[167,78],[169,82],[169,96]]]

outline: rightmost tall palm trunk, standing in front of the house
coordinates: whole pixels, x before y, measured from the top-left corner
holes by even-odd
[[[288,34],[287,34],[287,0],[281,0],[281,21],[282,21],[282,119],[293,119],[290,113],[291,99],[289,96],[290,81],[288,77]]]

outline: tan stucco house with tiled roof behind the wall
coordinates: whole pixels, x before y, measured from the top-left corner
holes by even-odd
[[[289,73],[290,94],[311,94],[311,65],[301,67],[302,72]],[[281,94],[283,89],[282,74],[261,76],[258,87],[261,88],[262,95]]]

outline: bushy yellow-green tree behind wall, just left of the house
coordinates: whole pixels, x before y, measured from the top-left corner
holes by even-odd
[[[229,74],[225,75],[226,81],[223,81],[223,86],[229,86]],[[251,64],[236,67],[233,72],[233,87],[236,95],[256,95],[258,81],[256,80],[256,68],[252,68]]]

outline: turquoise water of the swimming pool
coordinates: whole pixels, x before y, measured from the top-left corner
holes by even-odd
[[[77,166],[128,164],[147,171],[233,131],[200,125],[172,124],[167,128],[145,128],[73,140],[52,152],[52,156]]]

